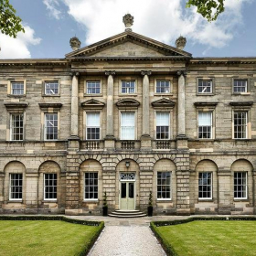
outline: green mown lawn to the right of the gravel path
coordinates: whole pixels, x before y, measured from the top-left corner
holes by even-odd
[[[256,255],[256,221],[199,220],[156,231],[180,256]]]

